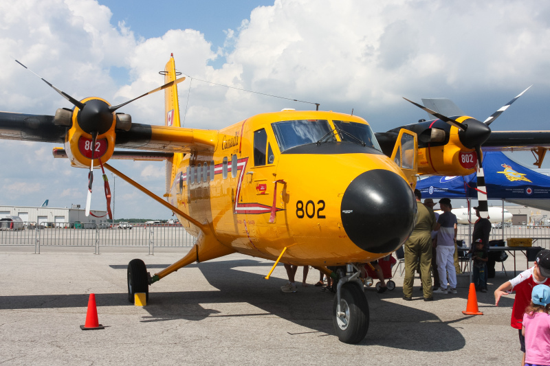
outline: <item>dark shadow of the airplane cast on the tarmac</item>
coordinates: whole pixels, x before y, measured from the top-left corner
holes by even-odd
[[[298,287],[297,293],[282,293],[279,286],[285,284],[273,277],[266,281],[263,277],[270,269],[270,263],[256,260],[228,260],[192,264],[201,270],[210,285],[217,290],[186,291],[192,283],[182,284],[181,292],[155,292],[151,286],[148,305],[144,308],[150,317],[142,321],[170,321],[186,319],[201,321],[207,317],[259,317],[274,315],[296,323],[320,336],[334,334],[331,319],[334,295],[309,285]],[[265,273],[259,275],[239,269],[239,267],[265,267]],[[121,270],[126,266],[111,266]],[[158,266],[150,266],[158,268]],[[186,268],[178,273],[185,278]],[[302,268],[298,268],[296,279],[302,279]],[[151,271],[153,272],[153,271]],[[309,282],[318,278],[318,271],[309,271]],[[125,289],[124,289],[125,290]],[[416,290],[416,289],[415,289]],[[450,323],[445,323],[431,312],[415,308],[415,301],[408,306],[393,304],[385,299],[401,297],[400,288],[386,291],[380,295],[373,288],[366,290],[369,301],[371,322],[366,339],[361,345],[382,345],[385,347],[423,352],[445,352],[460,350],[465,346],[465,339]],[[87,294],[82,295],[36,295],[36,296],[1,296],[0,310],[29,308],[71,308],[85,307]],[[121,293],[96,293],[98,306],[130,306],[125,291]],[[503,299],[507,301],[508,299]],[[218,310],[203,308],[200,304],[234,304],[248,303],[259,311],[245,314],[221,314]],[[422,304],[423,301],[422,301]],[[504,304],[503,304],[504,305]],[[460,319],[459,319],[460,321]],[[289,332],[289,334],[292,334]],[[441,342],[445,339],[445,342]]]

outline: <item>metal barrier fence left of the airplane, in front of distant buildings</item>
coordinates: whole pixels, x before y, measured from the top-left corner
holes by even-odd
[[[23,222],[21,227],[0,227],[0,247],[144,247],[152,254],[155,247],[192,247],[195,237],[180,224],[118,224],[80,222]]]

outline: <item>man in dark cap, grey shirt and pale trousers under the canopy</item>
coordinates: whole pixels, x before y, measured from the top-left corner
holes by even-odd
[[[434,293],[456,294],[456,268],[454,268],[454,246],[456,244],[456,215],[451,212],[452,205],[449,198],[441,198],[439,207],[443,214],[437,218],[435,231],[437,233],[437,271],[439,272],[439,288]],[[447,275],[450,288],[447,287]]]

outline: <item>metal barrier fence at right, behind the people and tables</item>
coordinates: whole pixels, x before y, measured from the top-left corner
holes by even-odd
[[[465,245],[470,247],[470,234],[468,230],[469,225],[459,225],[459,230],[456,238],[458,240],[464,240]],[[474,225],[472,232],[474,231]],[[531,238],[533,239],[533,247],[542,247],[544,249],[550,249],[550,227],[549,226],[530,226],[530,225],[518,225],[518,226],[505,226],[493,227],[491,229],[491,235],[489,240],[507,240],[508,238]]]

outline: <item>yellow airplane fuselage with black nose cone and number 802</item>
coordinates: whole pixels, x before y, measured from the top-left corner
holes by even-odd
[[[265,113],[219,130],[214,151],[181,159],[168,199],[211,223],[226,247],[270,260],[286,247],[282,262],[318,266],[395,251],[417,210],[366,121],[318,111]]]

